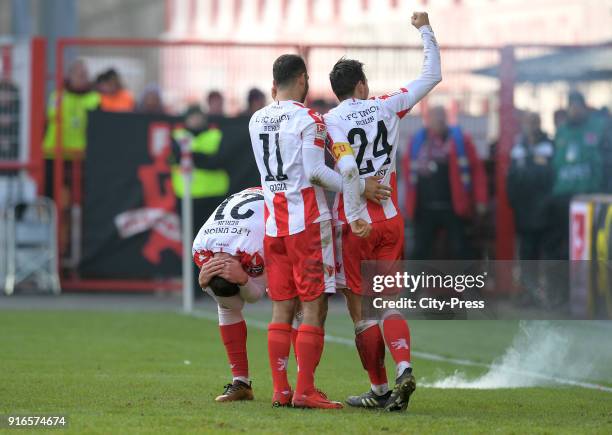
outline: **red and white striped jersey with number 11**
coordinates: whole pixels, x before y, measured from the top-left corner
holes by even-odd
[[[321,116],[295,101],[275,101],[253,114],[249,132],[265,196],[266,234],[283,237],[331,219],[323,188],[310,182],[302,153],[316,148],[324,160]]]

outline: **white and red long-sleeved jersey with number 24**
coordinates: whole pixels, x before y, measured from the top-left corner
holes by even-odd
[[[421,75],[399,90],[371,98],[349,98],[325,115],[329,138],[333,143],[349,143],[362,179],[381,176],[381,183],[391,186],[391,198],[381,205],[366,201],[360,216],[368,222],[380,222],[399,213],[397,203],[396,156],[400,120],[442,79],[440,51],[430,26],[419,29],[424,44]],[[332,144],[332,149],[334,149]],[[334,219],[346,222],[342,194],[336,195]]]

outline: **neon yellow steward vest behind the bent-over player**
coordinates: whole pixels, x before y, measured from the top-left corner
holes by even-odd
[[[223,133],[221,130],[211,128],[197,135],[189,130],[179,128],[174,130],[172,138],[178,144],[187,140],[191,143],[191,156],[193,171],[191,178],[191,196],[193,199],[225,196],[229,192],[230,179],[224,169],[217,169],[219,148]],[[172,164],[172,187],[178,198],[183,197],[185,191],[183,175],[181,173],[180,158]]]

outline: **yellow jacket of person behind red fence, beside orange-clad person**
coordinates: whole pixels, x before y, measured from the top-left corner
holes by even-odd
[[[57,132],[56,115],[57,92],[49,96],[47,105],[47,131],[43,143],[45,158],[55,157],[55,139]],[[95,91],[75,93],[64,90],[61,101],[62,150],[64,158],[70,159],[75,152],[85,151],[87,143],[87,112],[100,106],[100,94]]]

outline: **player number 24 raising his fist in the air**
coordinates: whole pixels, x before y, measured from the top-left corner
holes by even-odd
[[[387,311],[379,323],[362,318],[361,260],[400,260],[403,251],[404,222],[397,206],[396,153],[399,145],[399,124],[403,116],[440,82],[440,52],[429,25],[427,13],[415,12],[412,24],[419,30],[424,43],[421,75],[398,91],[368,99],[368,80],[363,64],[357,60],[340,59],[329,74],[331,87],[340,104],[325,116],[333,141],[335,157],[352,161],[361,177],[382,176],[381,183],[393,190],[390,200],[379,204],[362,202],[360,216],[372,223],[368,238],[355,237],[346,225],[346,201],[338,197],[334,217],[344,222],[338,235],[339,284],[343,290],[355,325],[355,343],[364,368],[368,372],[371,390],[361,396],[351,396],[347,403],[388,411],[406,409],[416,388],[410,364],[410,331],[398,311]],[[355,253],[358,253],[355,255]],[[345,283],[342,283],[342,281]],[[364,302],[366,303],[366,302]],[[387,385],[384,367],[385,342],[396,362],[396,383]]]

